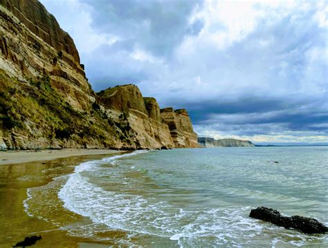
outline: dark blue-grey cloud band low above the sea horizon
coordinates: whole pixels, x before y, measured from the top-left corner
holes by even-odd
[[[325,99],[244,98],[232,102],[194,102],[185,107],[194,124],[212,126],[217,131],[235,130],[238,135],[278,130],[318,131],[328,135]]]

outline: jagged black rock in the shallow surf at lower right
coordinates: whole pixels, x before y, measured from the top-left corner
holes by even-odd
[[[271,222],[277,226],[293,228],[303,233],[325,233],[328,227],[313,218],[302,216],[282,216],[279,211],[268,209],[267,207],[258,207],[250,211],[249,217]]]

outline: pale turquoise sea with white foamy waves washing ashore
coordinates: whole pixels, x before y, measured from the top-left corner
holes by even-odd
[[[125,231],[116,245],[327,247],[327,234],[248,218],[265,206],[328,225],[327,161],[324,146],[136,151],[80,164],[58,195],[93,222],[71,235]]]

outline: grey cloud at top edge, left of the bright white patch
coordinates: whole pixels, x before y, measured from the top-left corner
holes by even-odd
[[[81,0],[92,6],[92,26],[99,32],[131,39],[156,56],[170,56],[185,35],[197,35],[201,20],[189,23],[197,0]]]

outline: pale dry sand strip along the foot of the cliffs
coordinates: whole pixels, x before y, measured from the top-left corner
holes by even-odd
[[[0,151],[0,165],[21,164],[27,162],[56,160],[84,155],[107,155],[124,153],[127,151],[109,149],[60,149],[60,150],[26,150],[26,151]]]

